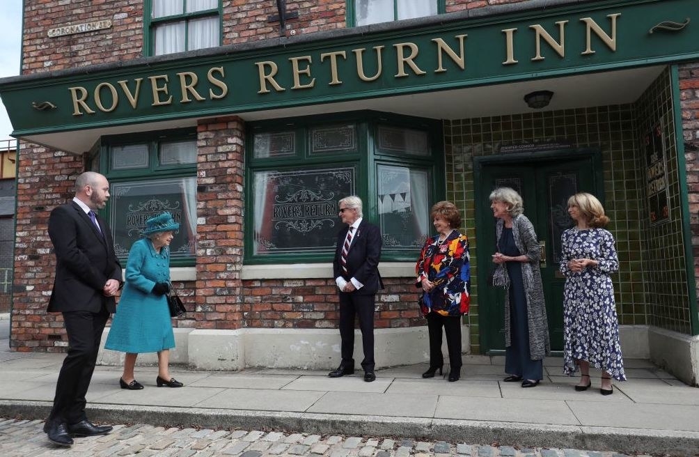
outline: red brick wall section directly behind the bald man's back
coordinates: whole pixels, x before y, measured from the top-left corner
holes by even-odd
[[[82,156],[22,143],[17,157],[17,234],[13,281],[13,351],[63,352],[67,338],[61,314],[47,313],[56,257],[48,216],[75,194],[84,171]]]

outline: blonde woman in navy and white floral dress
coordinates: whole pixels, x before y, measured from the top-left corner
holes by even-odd
[[[610,278],[619,269],[614,237],[602,228],[609,218],[593,195],[581,192],[570,197],[568,214],[576,225],[563,232],[561,246],[563,372],[572,376],[580,367],[575,390],[586,391],[592,385],[592,365],[602,370],[600,393],[611,395],[612,378],[626,381]]]

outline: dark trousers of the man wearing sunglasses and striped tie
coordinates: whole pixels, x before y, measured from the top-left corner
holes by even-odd
[[[359,316],[361,344],[365,372],[374,371],[374,304],[376,296],[340,292],[340,338],[342,339],[342,366],[354,367],[354,317]]]

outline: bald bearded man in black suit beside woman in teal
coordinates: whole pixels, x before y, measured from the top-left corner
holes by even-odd
[[[75,179],[75,197],[51,211],[48,234],[56,254],[56,276],[49,312],[63,314],[68,353],[56,383],[53,408],[44,425],[48,439],[71,446],[75,436],[106,435],[110,426],[95,426],[85,414],[85,395],[122,267],[109,228],[96,216],[109,198],[107,178],[86,171]]]

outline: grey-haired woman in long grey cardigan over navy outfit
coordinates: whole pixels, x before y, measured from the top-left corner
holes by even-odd
[[[511,188],[490,195],[498,218],[498,252],[493,262],[505,265],[505,382],[534,387],[543,379],[549,354],[549,329],[539,271],[540,248],[534,226],[522,214],[522,198]]]

